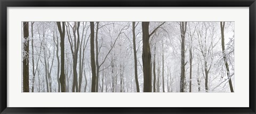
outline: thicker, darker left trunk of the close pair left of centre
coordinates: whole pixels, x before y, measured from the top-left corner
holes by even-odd
[[[90,22],[91,29],[91,68],[92,68],[92,86],[91,92],[95,91],[96,85],[96,67],[95,67],[95,57],[94,57],[94,22]]]

